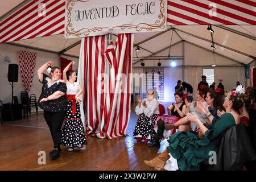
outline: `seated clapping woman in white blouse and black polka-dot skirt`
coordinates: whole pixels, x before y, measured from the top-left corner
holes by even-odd
[[[149,89],[147,98],[143,101],[139,96],[137,98],[138,106],[136,106],[136,114],[140,115],[134,130],[134,138],[137,141],[143,140],[145,143],[150,140],[151,143],[155,142],[152,135],[155,135],[154,125],[157,115],[159,114],[158,101],[154,98],[154,90]]]

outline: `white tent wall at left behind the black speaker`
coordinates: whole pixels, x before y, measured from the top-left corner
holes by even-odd
[[[56,65],[57,67],[60,66],[59,64],[59,55],[55,53],[48,53],[44,51],[37,51],[34,49],[26,49],[23,47],[18,47],[18,46],[11,46],[8,44],[0,44],[0,55],[2,56],[9,56],[10,57],[10,63],[7,63],[4,61],[2,57],[0,57],[0,100],[3,101],[3,103],[11,102],[11,85],[9,84],[8,78],[7,78],[7,73],[8,73],[8,65],[9,64],[18,64],[19,65],[19,50],[26,50],[26,51],[31,51],[31,52],[36,52],[37,57],[36,57],[36,65],[35,65],[35,72],[34,72],[34,79],[32,82],[31,90],[28,92],[28,94],[35,94],[36,99],[39,98],[41,89],[42,89],[42,84],[40,84],[38,77],[37,77],[37,70],[47,61],[53,61],[53,64]],[[73,61],[76,61],[78,63],[78,59],[74,57],[69,57],[69,56],[63,56],[66,59],[71,59]],[[74,69],[77,69],[77,66],[74,67]],[[22,77],[20,74],[20,68],[19,68],[19,77],[18,77],[18,82],[14,82],[14,96],[18,96],[18,101],[20,101],[20,92],[24,91],[23,87],[23,82],[22,82]],[[40,108],[39,108],[40,110]]]

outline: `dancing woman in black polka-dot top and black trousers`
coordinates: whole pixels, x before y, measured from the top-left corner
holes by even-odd
[[[48,61],[38,69],[38,78],[43,84],[38,106],[44,110],[44,119],[46,119],[51,131],[54,148],[49,152],[49,156],[55,160],[60,156],[61,126],[67,111],[68,101],[65,97],[67,86],[63,80],[60,80],[60,68],[52,67],[52,65],[52,61]],[[49,76],[44,74],[46,69]]]

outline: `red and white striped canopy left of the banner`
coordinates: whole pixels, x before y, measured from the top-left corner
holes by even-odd
[[[64,34],[64,20],[65,0],[31,1],[0,23],[0,43]]]

